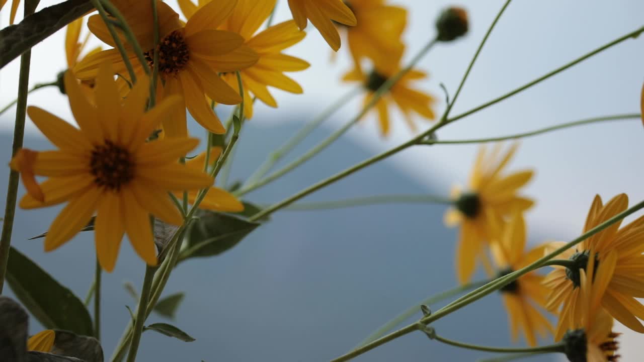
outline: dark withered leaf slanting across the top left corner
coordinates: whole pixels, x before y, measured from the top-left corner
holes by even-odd
[[[89,0],[67,0],[0,30],[0,69],[91,9]]]

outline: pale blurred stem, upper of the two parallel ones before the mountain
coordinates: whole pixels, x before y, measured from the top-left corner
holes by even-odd
[[[282,146],[270,153],[263,164],[255,171],[251,177],[249,177],[246,182],[246,187],[254,187],[255,184],[264,176],[266,173],[272,169],[273,166],[283,157],[285,157],[292,149],[294,149],[298,144],[300,144],[305,138],[308,137],[322,122],[328,119],[333,113],[345,106],[350,100],[354,99],[355,96],[359,95],[362,91],[362,87],[356,87],[352,89],[349,93],[343,95],[330,106],[325,108],[316,118],[310,120],[303,128],[300,128],[298,133],[289,138]],[[250,191],[250,190],[249,190]]]

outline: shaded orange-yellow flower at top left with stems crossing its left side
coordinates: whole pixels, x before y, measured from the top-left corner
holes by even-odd
[[[242,70],[255,64],[257,53],[244,46],[244,39],[232,32],[216,30],[229,17],[236,0],[218,0],[208,3],[194,13],[185,23],[168,5],[157,1],[160,43],[158,45],[160,82],[164,84],[159,97],[182,95],[185,107],[194,119],[213,133],[224,133],[222,122],[211,109],[205,95],[223,104],[239,104],[242,97],[218,76],[218,73]],[[124,6],[129,5],[129,6]],[[150,66],[153,62],[153,37],[149,1],[119,1],[116,6],[137,36]],[[89,26],[99,39],[114,46],[106,25],[99,15],[90,17]],[[129,58],[137,74],[143,74],[135,54],[129,50]],[[116,49],[90,55],[75,66],[81,79],[95,77],[99,64],[110,61],[117,73],[127,76],[124,62]],[[205,94],[205,95],[204,95]],[[164,121],[166,137],[187,136],[185,109],[177,109]]]

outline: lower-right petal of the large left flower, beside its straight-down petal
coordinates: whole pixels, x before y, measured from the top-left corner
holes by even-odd
[[[147,265],[156,265],[155,242],[152,237],[149,213],[138,204],[136,196],[129,187],[123,189],[123,207],[125,209],[125,230],[129,242]]]

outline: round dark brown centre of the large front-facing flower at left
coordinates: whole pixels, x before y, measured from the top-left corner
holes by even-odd
[[[110,141],[94,148],[90,167],[95,184],[113,191],[120,191],[121,186],[134,178],[134,164],[129,151]]]

